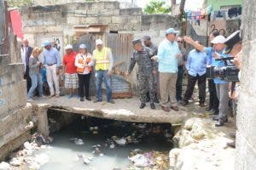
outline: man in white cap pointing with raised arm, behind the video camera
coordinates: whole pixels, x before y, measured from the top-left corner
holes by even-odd
[[[227,57],[224,54],[226,38],[223,36],[214,37],[212,40],[213,48],[206,48],[201,44],[195,42],[191,37],[183,37],[184,41],[194,46],[196,49],[206,52],[208,56],[211,56],[209,60],[212,59],[212,66],[223,67],[224,61],[216,60]],[[222,81],[220,78],[214,78],[214,83],[216,85],[217,96],[219,100],[218,105],[218,117],[213,116],[213,120],[218,121],[215,126],[224,126],[224,122],[228,122],[227,113],[229,110],[229,83]]]

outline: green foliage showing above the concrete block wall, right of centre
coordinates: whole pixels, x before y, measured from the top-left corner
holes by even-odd
[[[171,12],[171,7],[166,5],[163,0],[151,0],[145,8],[143,8],[144,14],[168,14]]]

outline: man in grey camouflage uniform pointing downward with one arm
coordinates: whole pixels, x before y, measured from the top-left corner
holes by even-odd
[[[129,69],[126,72],[126,76],[131,74],[134,65],[137,63],[140,100],[142,102],[140,108],[143,109],[146,106],[146,96],[149,88],[150,107],[151,109],[155,109],[153,77],[153,70],[155,68],[153,65],[153,60],[151,60],[151,57],[153,56],[152,50],[150,48],[143,47],[142,41],[140,39],[133,40],[132,45],[135,52],[132,55],[131,64],[129,65]]]

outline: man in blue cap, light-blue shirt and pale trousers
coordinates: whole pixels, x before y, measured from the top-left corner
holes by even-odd
[[[49,84],[49,97],[60,96],[59,87],[59,68],[61,66],[61,55],[56,48],[51,47],[51,42],[44,42],[44,66],[46,68],[46,77]],[[55,84],[55,88],[53,87]]]

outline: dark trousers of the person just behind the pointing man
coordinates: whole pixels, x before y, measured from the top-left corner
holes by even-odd
[[[208,80],[209,108],[218,111],[218,96],[216,86],[212,79]]]

